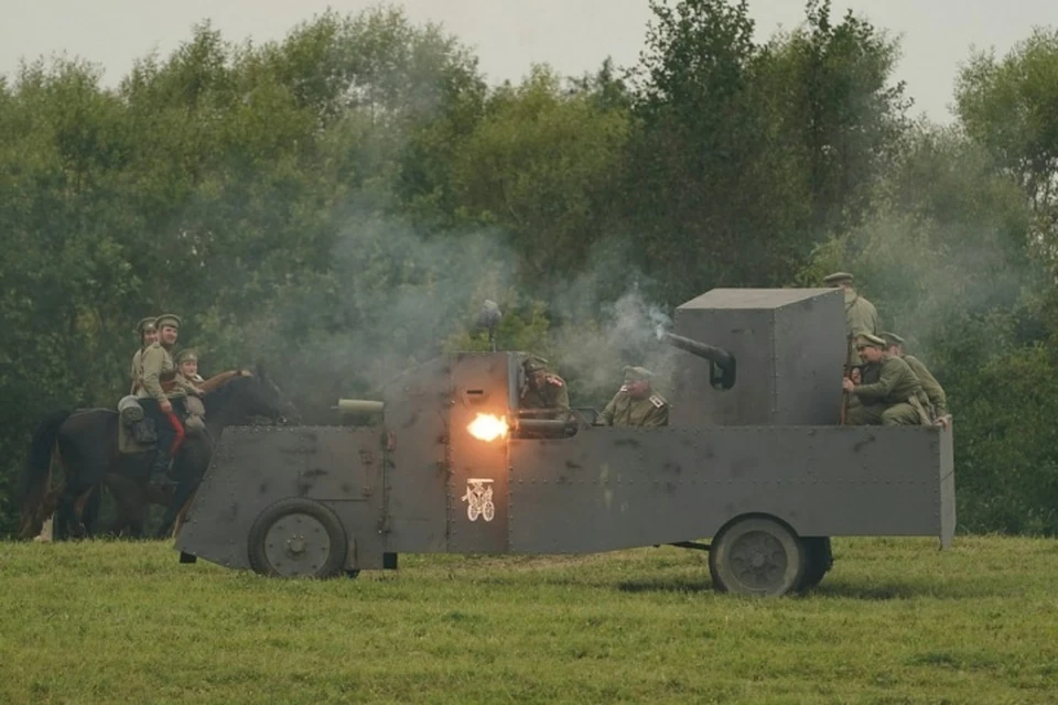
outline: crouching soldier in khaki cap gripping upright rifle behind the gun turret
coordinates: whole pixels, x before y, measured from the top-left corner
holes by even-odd
[[[920,400],[925,398],[922,386],[907,362],[885,354],[882,338],[863,334],[856,341],[856,351],[867,365],[878,366],[876,382],[856,384],[848,377],[841,380],[842,389],[854,394],[859,405],[849,409],[851,425],[904,426],[917,425],[924,419]]]

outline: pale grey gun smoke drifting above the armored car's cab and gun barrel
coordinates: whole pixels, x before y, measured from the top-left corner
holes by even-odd
[[[339,397],[377,397],[404,370],[456,349],[489,349],[482,305],[499,305],[499,349],[546,357],[574,405],[602,408],[626,365],[647,367],[665,393],[678,351],[659,343],[669,311],[648,301],[638,276],[615,268],[613,248],[551,301],[518,285],[503,234],[423,236],[399,220],[352,210],[331,271],[292,288],[250,326],[250,345],[278,358],[283,389],[305,421],[333,423]],[[620,291],[615,299],[611,292]]]

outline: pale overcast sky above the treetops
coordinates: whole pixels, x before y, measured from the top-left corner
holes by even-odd
[[[299,21],[324,11],[357,12],[370,0],[0,0],[0,73],[20,58],[65,52],[97,64],[117,84],[132,59],[152,50],[169,54],[209,18],[229,40],[280,39]],[[518,79],[533,62],[563,74],[592,70],[607,56],[636,61],[650,12],[647,0],[403,0],[414,21],[442,22],[476,48],[493,82]],[[802,0],[749,0],[764,40],[796,26]],[[914,111],[935,121],[951,117],[953,78],[971,45],[1003,54],[1034,25],[1058,25],[1056,0],[833,0],[833,15],[852,8],[903,37],[897,78],[907,82]]]

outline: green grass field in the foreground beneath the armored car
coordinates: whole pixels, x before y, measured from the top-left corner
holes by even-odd
[[[834,553],[812,595],[753,600],[673,547],[284,582],[0,543],[0,703],[1058,703],[1058,542]]]

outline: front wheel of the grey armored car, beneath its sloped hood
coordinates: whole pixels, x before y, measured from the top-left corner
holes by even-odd
[[[311,499],[280,500],[250,527],[250,567],[261,575],[334,577],[343,572],[347,550],[341,520]]]

